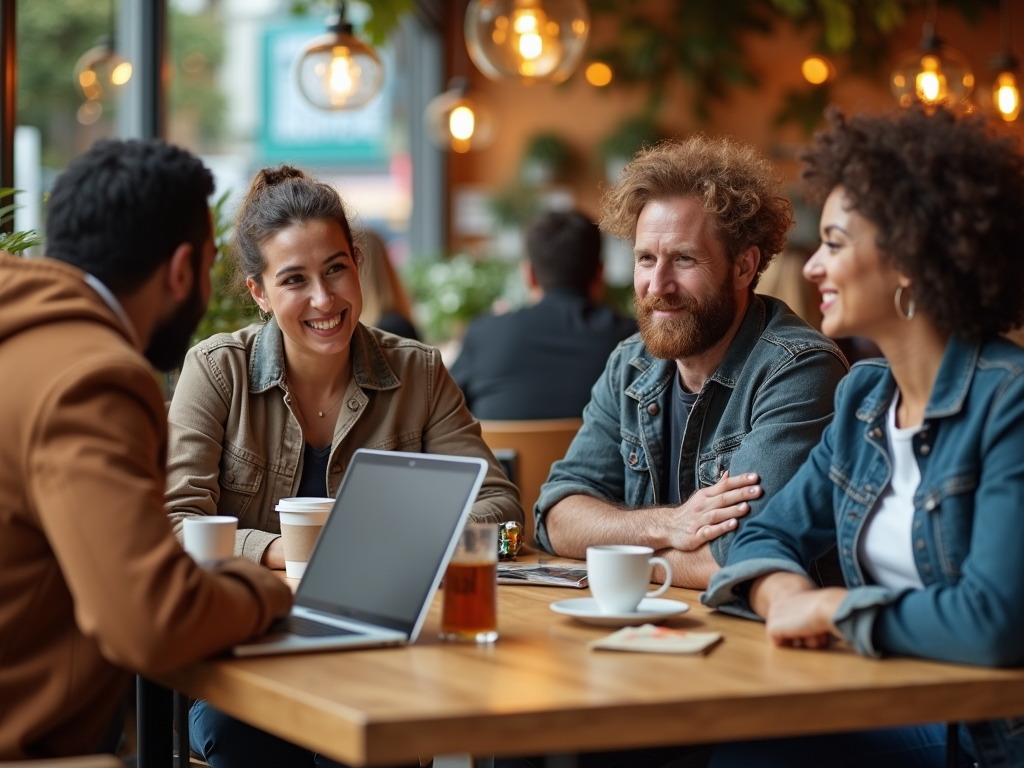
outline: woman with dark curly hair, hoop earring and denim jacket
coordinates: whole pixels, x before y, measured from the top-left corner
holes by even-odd
[[[807,462],[703,596],[778,645],[1024,664],[1024,158],[975,118],[828,115],[805,157],[824,200],[804,273],[854,366]],[[839,545],[844,588],[808,563]],[[1024,721],[962,725],[964,765],[1024,765]],[[942,766],[942,725],[728,744],[726,766]]]

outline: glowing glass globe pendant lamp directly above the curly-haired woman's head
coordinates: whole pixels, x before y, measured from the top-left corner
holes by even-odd
[[[942,43],[926,23],[921,45],[900,55],[889,84],[900,106],[920,101],[926,109],[953,109],[970,97],[974,73],[967,56]]]

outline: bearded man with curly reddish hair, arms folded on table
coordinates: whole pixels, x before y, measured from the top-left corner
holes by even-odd
[[[648,546],[676,586],[703,588],[743,519],[818,441],[848,366],[784,303],[754,293],[793,207],[753,148],[694,136],[643,151],[602,207],[601,228],[634,243],[640,333],[608,358],[552,467],[538,542],[575,558]]]

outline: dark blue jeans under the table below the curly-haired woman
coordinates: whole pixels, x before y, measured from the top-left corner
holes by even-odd
[[[962,768],[974,761],[961,749]],[[945,768],[946,726],[918,725],[820,736],[736,741],[715,750],[709,768]]]

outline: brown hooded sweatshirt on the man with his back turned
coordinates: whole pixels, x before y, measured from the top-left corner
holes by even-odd
[[[132,673],[291,605],[267,569],[206,571],[175,541],[160,387],[83,278],[0,254],[0,760],[95,752]]]

